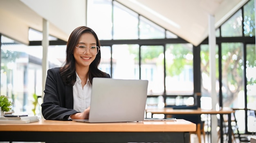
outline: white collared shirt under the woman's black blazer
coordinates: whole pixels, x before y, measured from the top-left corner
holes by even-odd
[[[78,112],[83,112],[86,108],[90,106],[92,95],[92,84],[87,78],[87,82],[82,88],[81,79],[76,73],[76,82],[73,86],[73,100],[74,100],[74,110]]]

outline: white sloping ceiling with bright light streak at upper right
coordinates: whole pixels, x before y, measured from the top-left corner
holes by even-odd
[[[117,0],[193,45],[208,37],[209,15],[220,26],[248,0]]]

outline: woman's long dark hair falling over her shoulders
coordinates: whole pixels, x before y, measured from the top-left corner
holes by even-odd
[[[83,33],[91,33],[95,39],[96,44],[100,48],[99,39],[96,33],[89,27],[80,26],[73,30],[70,34],[70,37],[67,41],[67,49],[66,49],[66,61],[63,66],[60,68],[60,76],[65,85],[74,85],[76,82],[76,67],[75,67],[75,58],[74,58],[74,48]],[[105,77],[106,73],[102,72],[98,69],[99,63],[101,61],[101,50],[99,50],[98,54],[94,61],[90,64],[89,67],[89,81],[92,83],[92,78],[94,77]]]

